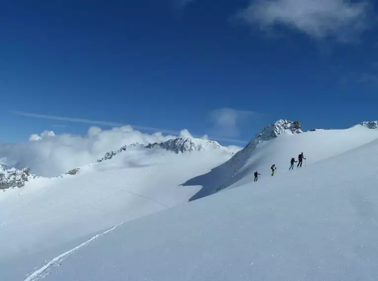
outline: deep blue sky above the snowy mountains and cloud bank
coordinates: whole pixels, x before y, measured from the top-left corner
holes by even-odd
[[[377,120],[373,4],[3,2],[0,141],[85,134],[93,124],[78,119],[239,145],[281,118],[305,129]]]

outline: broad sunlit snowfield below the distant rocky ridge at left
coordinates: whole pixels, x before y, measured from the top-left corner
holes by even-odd
[[[176,141],[177,151],[172,145],[129,145],[77,169],[74,176],[37,178],[22,189],[2,192],[0,264],[188,202],[201,186],[180,184],[209,172],[233,153],[214,142],[181,142]]]

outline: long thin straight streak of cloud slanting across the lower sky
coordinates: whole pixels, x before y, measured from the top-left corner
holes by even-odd
[[[188,130],[184,129],[181,131],[174,131],[168,129],[161,129],[155,127],[147,127],[147,126],[140,126],[140,125],[130,125],[130,124],[122,124],[117,122],[108,122],[108,121],[100,121],[100,120],[90,120],[90,119],[83,119],[83,118],[72,118],[72,117],[63,117],[63,116],[54,116],[54,115],[45,115],[45,114],[38,114],[38,113],[30,113],[30,112],[23,112],[23,111],[11,111],[12,114],[26,116],[26,117],[33,117],[33,118],[42,118],[42,119],[49,119],[49,120],[59,120],[59,121],[66,121],[66,122],[74,122],[74,123],[85,123],[85,124],[92,124],[92,125],[100,125],[100,126],[109,126],[109,127],[124,127],[130,126],[133,129],[147,131],[147,132],[154,132],[154,133],[166,133],[173,136],[182,136],[184,138],[194,137],[202,139],[203,136],[194,134],[191,135]],[[246,140],[236,140],[231,138],[217,138],[217,137],[208,137],[207,135],[204,136],[205,138],[209,138],[210,140],[217,140],[217,141],[226,141],[232,143],[242,143],[246,144],[248,141]]]

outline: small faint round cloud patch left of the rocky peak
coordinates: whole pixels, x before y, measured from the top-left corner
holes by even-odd
[[[213,123],[211,133],[216,136],[237,137],[240,135],[238,125],[255,114],[252,111],[219,108],[210,112],[210,121]]]

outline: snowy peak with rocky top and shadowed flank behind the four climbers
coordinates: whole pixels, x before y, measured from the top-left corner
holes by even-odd
[[[276,165],[278,174],[289,173],[291,158],[297,160],[301,152],[306,158],[303,165],[309,165],[377,140],[378,130],[372,125],[376,123],[364,122],[344,130],[303,132],[294,122],[279,120],[260,131],[226,163],[212,169],[210,173],[188,180],[184,185],[203,186],[192,198],[195,200],[253,181],[256,170],[261,174],[261,179],[270,177],[270,167],[273,164]]]

